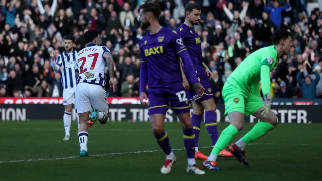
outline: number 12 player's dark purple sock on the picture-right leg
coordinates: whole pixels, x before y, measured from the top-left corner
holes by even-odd
[[[195,158],[195,135],[193,129],[183,129],[183,143],[186,148],[187,158]]]

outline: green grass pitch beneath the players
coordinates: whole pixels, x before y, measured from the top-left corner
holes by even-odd
[[[246,124],[244,131],[232,141],[243,136],[253,125]],[[219,131],[226,126],[227,123],[219,123]],[[178,123],[165,123],[172,148],[179,149],[174,151],[177,164],[168,175],[160,173],[165,156],[153,138],[149,123],[96,123],[89,130],[88,142],[89,154],[96,156],[86,158],[78,158],[76,122],[72,122],[71,127],[71,139],[63,141],[62,120],[0,122],[0,180],[322,179],[322,124],[280,124],[265,137],[246,146],[249,167],[241,165],[235,158],[219,158],[222,170],[206,170],[203,176],[185,172],[187,160]],[[206,155],[210,153],[210,144],[203,124],[199,145],[208,146],[200,149]],[[143,153],[145,150],[150,152]],[[59,160],[54,160],[56,158]],[[202,160],[197,163],[201,166]]]

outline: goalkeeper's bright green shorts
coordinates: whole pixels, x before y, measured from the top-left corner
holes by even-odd
[[[230,112],[241,112],[249,116],[263,106],[260,97],[243,91],[229,82],[223,86],[222,97],[225,101],[225,115]]]

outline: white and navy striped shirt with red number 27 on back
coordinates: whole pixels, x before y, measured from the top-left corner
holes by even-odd
[[[78,60],[75,70],[79,72],[77,84],[84,82],[105,86],[105,60],[103,54],[111,53],[105,46],[98,46],[94,43],[88,44],[80,50],[76,56]]]

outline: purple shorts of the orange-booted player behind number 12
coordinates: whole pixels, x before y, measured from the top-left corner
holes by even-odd
[[[199,80],[200,84],[205,88],[205,92],[202,94],[202,97],[200,97],[194,90],[193,87],[190,86],[189,90],[186,90],[187,97],[189,101],[198,101],[203,102],[208,99],[213,99],[213,93],[211,91],[211,85],[209,78],[206,74],[201,74],[197,76],[197,79]]]

